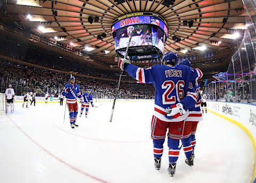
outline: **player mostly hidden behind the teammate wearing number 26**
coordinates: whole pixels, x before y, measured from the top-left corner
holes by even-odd
[[[182,60],[180,64],[185,64],[189,68],[191,67],[191,63],[188,60]],[[195,134],[196,134],[198,122],[203,119],[201,108],[200,108],[201,93],[200,93],[200,87],[197,82],[198,79],[201,79],[203,77],[203,72],[200,69],[193,69],[193,71],[194,71],[193,87],[195,88],[195,91],[196,91],[196,105],[189,108],[189,115],[185,120],[185,129],[183,132],[183,139],[181,140],[183,145],[183,151],[185,152],[185,154],[193,150],[193,153],[185,161],[189,166],[194,165],[194,156],[195,156],[194,149],[196,145]]]

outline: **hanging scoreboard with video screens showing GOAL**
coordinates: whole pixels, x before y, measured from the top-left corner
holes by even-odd
[[[142,15],[133,16],[134,14]],[[135,31],[132,36],[130,47],[146,48],[146,46],[153,46],[158,48],[159,51],[163,54],[164,42],[168,34],[167,26],[161,17],[157,17],[159,15],[155,14],[156,16],[153,16],[153,13],[148,13],[150,15],[144,14],[132,13],[124,15],[124,17],[119,18],[123,18],[122,20],[115,20],[113,22],[111,30],[113,31],[115,50],[117,53],[124,52],[124,49],[128,45],[132,31],[139,26],[140,28],[137,29],[137,31]],[[128,18],[125,19],[127,16]],[[137,51],[139,50],[142,49],[137,49]],[[145,54],[147,51],[145,50],[146,49],[143,49],[143,51],[141,51],[141,55],[138,56],[138,59],[135,60],[147,59],[147,54]],[[158,58],[158,54],[156,55],[151,55],[151,57],[148,56],[148,58]],[[133,55],[131,56],[134,57]]]

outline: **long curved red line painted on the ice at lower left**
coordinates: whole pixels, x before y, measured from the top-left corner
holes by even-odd
[[[61,163],[67,165],[69,168],[71,168],[71,169],[73,169],[73,170],[76,170],[76,171],[78,171],[78,172],[84,174],[84,175],[87,176],[87,177],[90,177],[90,178],[92,178],[92,179],[94,179],[94,180],[97,180],[97,181],[99,181],[99,182],[108,183],[108,181],[102,180],[102,179],[97,178],[97,177],[94,177],[94,176],[91,176],[90,174],[84,172],[83,170],[80,170],[80,169],[74,167],[73,165],[71,165],[71,164],[65,162],[64,160],[60,159],[58,156],[55,156],[55,155],[52,154],[50,151],[48,151],[46,148],[44,148],[43,146],[41,146],[40,144],[38,144],[38,143],[37,143],[33,138],[31,138],[25,131],[23,131],[23,130],[18,126],[18,124],[16,124],[16,123],[9,117],[9,115],[7,115],[7,117],[11,120],[11,122],[12,122],[26,137],[28,137],[28,138],[29,138],[33,143],[35,143],[38,147],[40,147],[41,149],[43,149],[44,152],[46,152],[47,154],[49,154],[49,155],[51,155],[52,157],[54,157],[54,159],[56,159],[56,160],[60,161]]]

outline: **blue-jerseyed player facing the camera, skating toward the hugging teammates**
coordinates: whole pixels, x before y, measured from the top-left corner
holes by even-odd
[[[70,83],[65,85],[61,95],[67,98],[70,125],[71,128],[75,128],[78,127],[78,124],[76,124],[78,114],[77,97],[83,102],[83,96],[79,91],[79,87],[75,84],[75,77],[71,76],[69,80]]]

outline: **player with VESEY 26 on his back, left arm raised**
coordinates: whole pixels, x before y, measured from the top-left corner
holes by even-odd
[[[166,131],[168,131],[170,176],[174,176],[179,157],[179,140],[182,138],[184,120],[190,107],[196,104],[192,84],[193,71],[186,65],[177,64],[178,57],[172,52],[163,56],[164,65],[153,65],[143,69],[127,60],[120,60],[118,66],[130,76],[142,82],[153,82],[155,87],[155,111],[151,121],[151,138],[154,145],[155,168],[161,168],[161,157]],[[190,156],[192,152],[188,153]]]

